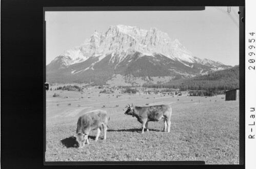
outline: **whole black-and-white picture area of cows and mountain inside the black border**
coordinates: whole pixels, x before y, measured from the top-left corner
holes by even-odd
[[[239,164],[239,7],[45,11],[45,161]]]

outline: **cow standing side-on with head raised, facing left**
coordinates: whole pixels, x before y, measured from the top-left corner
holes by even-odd
[[[164,130],[163,132],[170,132],[171,127],[171,107],[169,105],[152,105],[149,107],[133,107],[133,105],[128,104],[129,107],[125,112],[125,115],[132,115],[136,117],[137,120],[142,123],[142,133],[144,133],[145,127],[148,131],[148,121],[159,121],[164,118]]]

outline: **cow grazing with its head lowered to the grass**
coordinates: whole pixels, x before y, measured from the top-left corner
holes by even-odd
[[[91,130],[97,129],[95,141],[99,139],[101,133],[101,125],[104,129],[104,140],[107,138],[107,124],[110,117],[104,110],[93,110],[86,112],[80,116],[77,121],[76,134],[74,137],[80,148],[85,146],[85,141],[89,144],[88,135]]]

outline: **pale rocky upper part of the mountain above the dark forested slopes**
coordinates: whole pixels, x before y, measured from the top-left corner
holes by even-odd
[[[171,40],[167,33],[155,27],[142,29],[125,25],[110,26],[105,33],[95,30],[83,44],[65,51],[60,56],[69,58],[63,60],[65,65],[72,65],[90,57],[99,57],[100,61],[111,54],[111,61],[119,64],[134,52],[147,56],[161,54],[184,65],[188,62],[214,67],[223,65],[221,62],[194,57],[178,39]]]

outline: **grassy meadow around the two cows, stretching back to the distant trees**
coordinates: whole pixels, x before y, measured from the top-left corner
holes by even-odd
[[[59,93],[70,96],[64,99],[52,97],[54,92],[48,91],[46,98],[46,161],[202,160],[206,164],[239,163],[239,101],[225,101],[221,98],[223,95],[205,98],[122,94],[116,98],[118,92],[114,96],[99,96],[99,90],[86,91],[85,94]],[[142,134],[141,123],[135,117],[124,115],[127,103],[170,104],[170,133],[162,132],[164,122],[161,120],[149,122],[150,131]],[[102,132],[95,142],[96,131],[91,131],[90,144],[77,149],[71,137],[76,132],[77,119],[95,109],[110,114],[107,140],[103,140]]]

